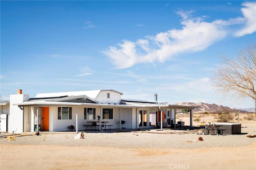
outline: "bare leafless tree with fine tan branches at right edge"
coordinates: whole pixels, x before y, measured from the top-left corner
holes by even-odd
[[[256,101],[256,45],[252,43],[240,50],[235,59],[221,55],[222,63],[213,76],[214,86],[224,96]]]

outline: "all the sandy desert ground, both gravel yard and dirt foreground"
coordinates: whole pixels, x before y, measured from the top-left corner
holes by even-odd
[[[215,116],[215,117],[214,117]],[[197,127],[214,122],[214,114],[194,114]],[[249,120],[250,119],[250,120]],[[176,120],[189,123],[189,115]],[[232,122],[238,122],[234,117]],[[254,114],[240,114],[241,134],[198,135],[196,129],[141,129],[135,131],[40,132],[40,135],[1,136],[1,169],[256,169]],[[202,137],[203,141],[198,138]]]

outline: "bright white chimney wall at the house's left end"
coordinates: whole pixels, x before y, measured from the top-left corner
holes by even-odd
[[[18,94],[10,95],[10,115],[8,119],[8,132],[23,132],[23,110],[16,103],[22,103],[29,100],[29,95]]]

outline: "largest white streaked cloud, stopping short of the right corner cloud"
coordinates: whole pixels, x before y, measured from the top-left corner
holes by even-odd
[[[188,17],[184,14],[183,18]],[[123,40],[103,53],[122,69],[136,63],[164,62],[180,52],[199,51],[226,36],[218,23],[203,22],[202,18],[183,20],[181,24],[184,26],[182,30],[161,32],[136,42]]]

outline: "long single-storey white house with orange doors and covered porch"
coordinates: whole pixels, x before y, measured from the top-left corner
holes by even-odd
[[[192,127],[194,106],[158,103],[156,94],[154,102],[122,99],[122,94],[115,90],[94,90],[41,93],[30,98],[18,90],[18,94],[10,95],[8,132],[33,132],[36,127],[41,131],[68,131],[70,125],[78,132],[97,121],[98,115],[100,123],[107,122],[114,129],[152,128],[158,121],[175,124],[176,109],[190,109],[190,123],[186,125]]]

